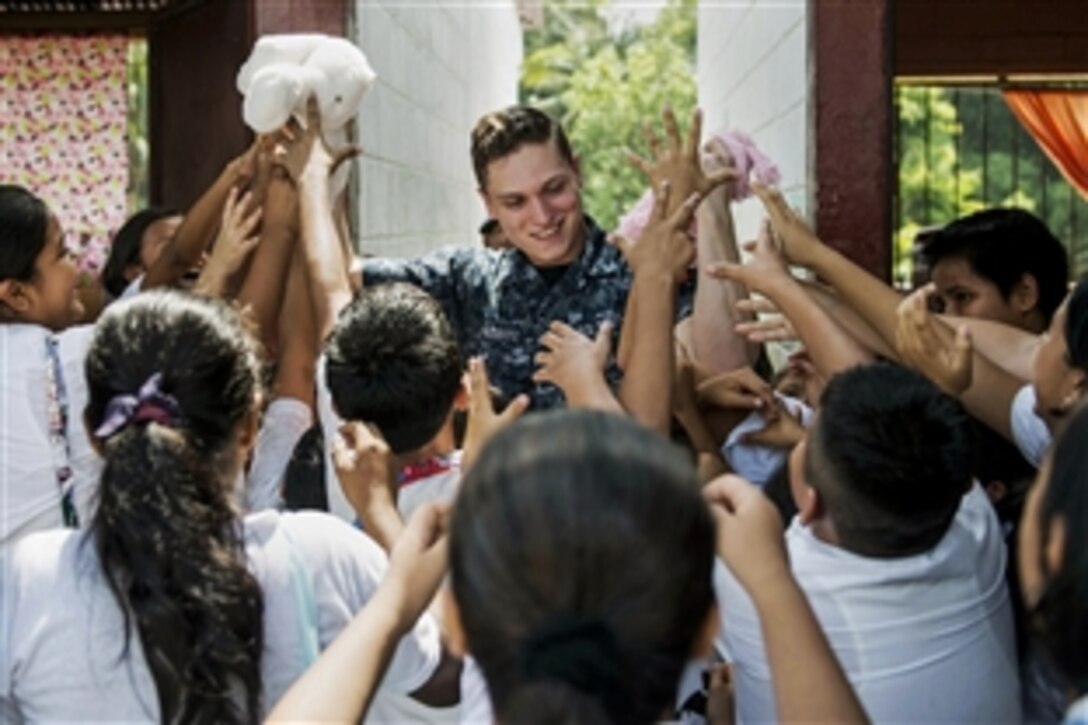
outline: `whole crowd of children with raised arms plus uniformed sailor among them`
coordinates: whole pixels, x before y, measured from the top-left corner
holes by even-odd
[[[562,128],[490,113],[506,246],[356,275],[311,102],[122,229],[97,319],[0,186],[0,720],[1088,718],[1061,244],[979,212],[903,297],[664,126],[609,237]]]

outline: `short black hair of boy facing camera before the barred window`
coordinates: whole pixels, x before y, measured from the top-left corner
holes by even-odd
[[[985,209],[935,232],[922,249],[932,270],[945,258],[963,258],[1005,299],[1021,277],[1039,287],[1038,309],[1050,323],[1068,288],[1065,247],[1038,217],[1023,209]]]

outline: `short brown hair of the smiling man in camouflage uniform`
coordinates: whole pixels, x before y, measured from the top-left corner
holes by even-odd
[[[573,165],[574,155],[562,126],[543,111],[529,106],[511,106],[487,113],[472,130],[472,168],[477,184],[487,187],[487,165],[505,158],[526,144],[555,140],[562,158]]]

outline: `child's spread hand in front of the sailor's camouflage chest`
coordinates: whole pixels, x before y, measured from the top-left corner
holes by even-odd
[[[533,382],[559,388],[570,407],[622,411],[604,378],[611,332],[613,323],[607,320],[593,340],[564,322],[553,322],[541,336],[544,349],[536,354],[540,368],[533,373]]]

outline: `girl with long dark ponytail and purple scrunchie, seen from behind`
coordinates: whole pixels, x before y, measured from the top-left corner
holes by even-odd
[[[386,560],[347,525],[236,516],[258,372],[226,305],[150,292],[100,319],[84,413],[98,505],[86,532],[11,553],[0,720],[255,722],[373,594]],[[421,619],[383,689],[432,693],[441,654]]]

